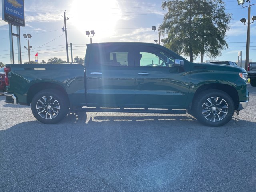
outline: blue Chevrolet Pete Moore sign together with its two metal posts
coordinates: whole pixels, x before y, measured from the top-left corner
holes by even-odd
[[[14,63],[13,36],[16,36],[18,61],[21,64],[20,26],[25,26],[24,0],[2,0],[2,19],[9,23],[11,63]],[[16,26],[16,33],[13,33],[12,25]]]

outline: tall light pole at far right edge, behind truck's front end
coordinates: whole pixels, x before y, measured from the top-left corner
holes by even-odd
[[[237,0],[237,2],[238,2],[238,5],[242,4],[242,7],[248,7],[248,22],[247,22],[247,24],[245,23],[246,22],[245,18],[242,18],[240,20],[242,23],[247,25],[246,53],[245,53],[245,70],[247,70],[248,64],[249,64],[249,51],[250,51],[250,24],[253,23],[254,20],[256,20],[256,16],[253,16],[252,17],[252,22],[250,22],[251,6],[255,5],[256,3],[251,5],[251,0],[246,0],[246,2],[249,2],[249,5],[248,6],[243,6],[245,0]]]

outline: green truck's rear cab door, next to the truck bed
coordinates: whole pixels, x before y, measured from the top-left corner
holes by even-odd
[[[132,47],[100,44],[90,57],[87,70],[89,104],[110,107],[134,104]]]

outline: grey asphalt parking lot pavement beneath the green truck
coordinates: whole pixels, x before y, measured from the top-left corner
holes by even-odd
[[[175,114],[38,122],[0,94],[0,191],[255,192],[256,88],[222,127]]]

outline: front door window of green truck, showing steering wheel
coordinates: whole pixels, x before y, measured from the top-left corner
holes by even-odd
[[[144,46],[135,52],[135,60],[135,64],[142,67],[172,67],[174,64],[172,56],[160,49]]]

